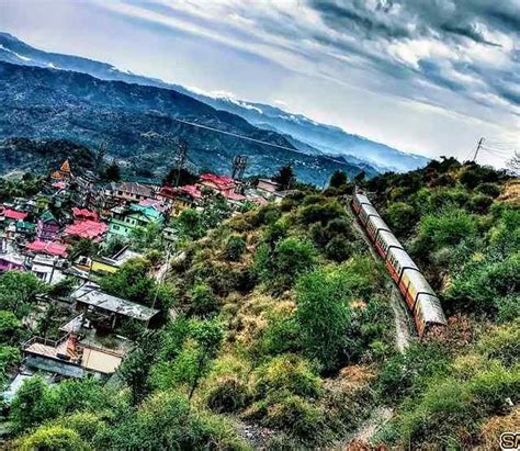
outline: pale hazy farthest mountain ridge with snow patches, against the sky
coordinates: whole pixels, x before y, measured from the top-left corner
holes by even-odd
[[[5,33],[0,33],[0,59],[8,63],[74,70],[104,80],[121,80],[173,89],[217,110],[237,114],[258,127],[291,135],[291,138],[286,136],[287,140],[305,154],[342,155],[344,157],[342,160],[357,166],[364,162],[362,166],[368,167],[369,170],[375,167],[381,171],[416,169],[428,161],[425,157],[402,153],[384,144],[348,134],[339,127],[319,124],[301,114],[291,114],[275,106],[210,97],[178,84],[169,84],[155,78],[118,70],[110,64],[43,52]]]

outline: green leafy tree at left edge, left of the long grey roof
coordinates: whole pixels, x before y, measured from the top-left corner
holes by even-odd
[[[7,271],[0,275],[0,309],[24,317],[36,296],[46,292],[45,283],[31,272]]]

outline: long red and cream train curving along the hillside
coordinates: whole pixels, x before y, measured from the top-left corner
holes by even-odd
[[[419,337],[431,329],[444,329],[446,318],[439,297],[369,198],[354,193],[351,207],[403,294]]]

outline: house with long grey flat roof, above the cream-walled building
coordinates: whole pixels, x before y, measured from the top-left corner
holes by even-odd
[[[128,319],[148,323],[159,313],[156,308],[103,293],[92,282],[77,289],[70,298],[75,302],[76,311],[86,313],[97,328],[109,330]]]

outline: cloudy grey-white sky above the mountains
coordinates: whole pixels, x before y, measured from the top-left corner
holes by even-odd
[[[0,30],[430,157],[519,148],[520,0],[0,0]]]

